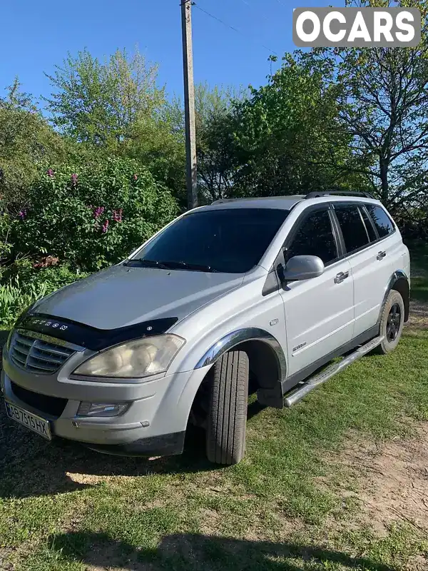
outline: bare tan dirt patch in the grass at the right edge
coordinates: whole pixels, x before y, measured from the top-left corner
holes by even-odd
[[[343,495],[360,502],[362,523],[379,535],[387,535],[393,523],[428,535],[428,423],[418,423],[415,430],[417,438],[382,445],[355,443],[351,437],[340,454],[339,464],[357,478],[354,490]]]

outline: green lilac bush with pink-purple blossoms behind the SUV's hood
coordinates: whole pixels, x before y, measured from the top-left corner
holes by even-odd
[[[178,213],[170,192],[131,159],[46,166],[13,225],[16,252],[81,271],[117,263]]]

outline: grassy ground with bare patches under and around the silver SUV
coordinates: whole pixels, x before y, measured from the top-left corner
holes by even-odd
[[[197,435],[182,457],[112,458],[1,416],[0,570],[427,570],[427,260],[396,352],[290,410],[250,404],[238,466]]]

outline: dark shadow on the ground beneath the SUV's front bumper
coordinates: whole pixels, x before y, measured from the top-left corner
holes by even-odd
[[[73,492],[93,483],[73,475],[144,476],[217,470],[205,458],[204,433],[189,430],[185,451],[165,458],[124,458],[95,453],[85,446],[54,438],[51,443],[6,418],[0,398],[0,497],[30,497]],[[94,480],[95,481],[95,480]]]

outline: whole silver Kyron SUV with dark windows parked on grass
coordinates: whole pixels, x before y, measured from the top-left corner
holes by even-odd
[[[397,226],[364,193],[196,208],[19,318],[3,353],[7,415],[123,455],[179,454],[195,424],[209,460],[238,463],[249,387],[291,406],[392,351],[409,275]]]

